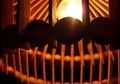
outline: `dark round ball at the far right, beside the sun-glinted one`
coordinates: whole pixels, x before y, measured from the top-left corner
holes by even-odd
[[[118,39],[119,31],[112,19],[98,17],[90,22],[89,33],[93,41],[98,44],[110,44]]]

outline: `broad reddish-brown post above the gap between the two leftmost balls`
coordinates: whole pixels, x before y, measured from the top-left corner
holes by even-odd
[[[16,24],[18,25],[19,32],[25,28],[30,19],[30,0],[18,0],[18,13]]]

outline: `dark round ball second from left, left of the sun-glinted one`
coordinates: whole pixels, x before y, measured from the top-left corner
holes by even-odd
[[[26,42],[33,46],[44,46],[51,38],[52,28],[43,20],[33,20],[23,30],[23,37]]]

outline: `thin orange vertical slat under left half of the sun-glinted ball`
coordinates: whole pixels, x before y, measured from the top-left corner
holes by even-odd
[[[65,45],[61,45],[61,84],[64,84],[64,55],[65,55]]]

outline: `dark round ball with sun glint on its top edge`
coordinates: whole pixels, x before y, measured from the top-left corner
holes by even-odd
[[[84,35],[83,23],[72,17],[65,17],[56,22],[53,28],[55,39],[63,44],[79,41]]]

